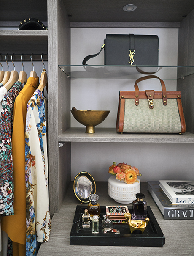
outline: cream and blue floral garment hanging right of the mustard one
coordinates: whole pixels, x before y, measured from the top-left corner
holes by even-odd
[[[46,141],[45,101],[36,90],[26,115],[26,256],[37,254],[37,242],[49,240],[51,219]]]

